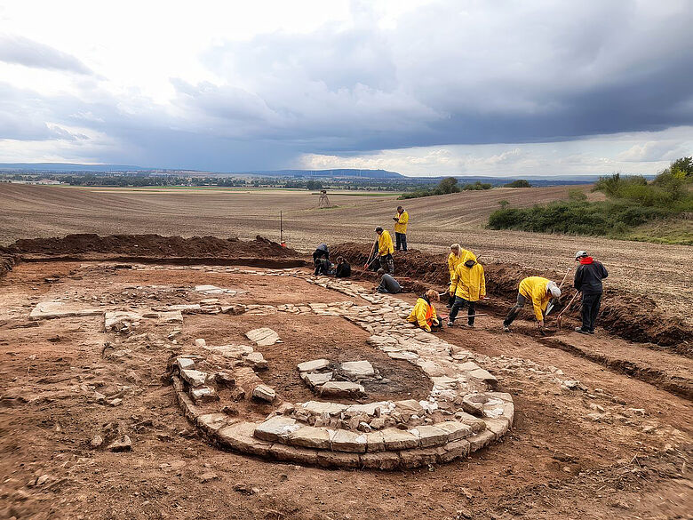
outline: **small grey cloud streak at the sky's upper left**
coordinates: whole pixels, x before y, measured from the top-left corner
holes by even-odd
[[[92,71],[74,56],[22,36],[0,36],[0,61],[32,68],[92,74]]]

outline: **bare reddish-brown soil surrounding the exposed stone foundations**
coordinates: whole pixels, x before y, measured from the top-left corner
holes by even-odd
[[[145,338],[123,340],[131,352],[122,357],[104,348],[104,341],[112,339],[100,332],[96,317],[28,322],[36,301],[62,297],[90,305],[162,304],[189,298],[176,289],[195,284],[242,288],[248,292],[236,298],[243,303],[344,299],[300,279],[275,284],[219,269],[21,263],[0,280],[0,377],[6,381],[0,394],[0,470],[7,476],[0,490],[2,517],[553,520],[689,515],[690,401],[584,356],[547,348],[529,322],[521,320],[518,332],[507,335],[498,331],[498,317],[481,316],[473,331],[442,332],[443,339],[489,356],[486,368],[514,397],[514,428],[503,443],[468,460],[402,473],[302,468],[222,452],[195,436],[161,379],[171,351],[157,348],[155,340],[165,339],[168,329],[145,327],[140,331]],[[415,295],[402,298],[412,301]],[[236,340],[255,324],[248,316],[186,319],[180,345],[198,337]],[[267,324],[267,318],[262,321]],[[321,356],[331,348],[366,352],[361,335],[346,322],[321,323],[319,335],[315,324],[273,320],[272,326],[287,340],[291,356],[301,350]],[[554,338],[582,341],[586,349],[609,348],[613,341],[602,332],[589,338],[565,332]],[[633,363],[659,363],[656,351],[631,344],[627,353]],[[281,353],[266,348],[265,354],[271,363],[282,363]],[[283,391],[298,391],[291,378],[298,380],[296,372],[289,372]],[[579,380],[584,390],[562,388],[560,380]],[[122,394],[123,404],[94,402],[92,388]],[[93,435],[113,428],[131,436],[131,452],[90,449]],[[215,477],[205,480],[210,473]]]

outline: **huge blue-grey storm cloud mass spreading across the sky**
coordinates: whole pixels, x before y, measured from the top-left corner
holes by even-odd
[[[120,143],[115,162],[214,170],[281,167],[304,153],[657,131],[693,124],[692,13],[675,1],[441,1],[393,25],[354,4],[346,25],[212,47],[201,60],[219,81],[173,78],[169,106],[96,96],[86,82],[88,100],[16,93],[31,124],[21,129],[23,112],[8,102],[0,125],[25,138],[50,135],[44,121],[85,125]],[[88,72],[12,42],[0,59]]]

